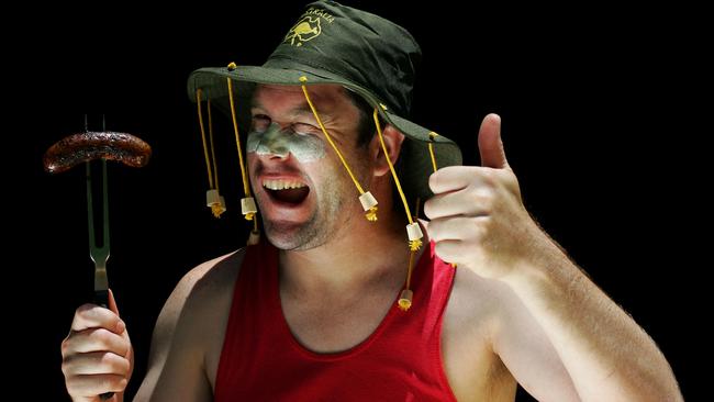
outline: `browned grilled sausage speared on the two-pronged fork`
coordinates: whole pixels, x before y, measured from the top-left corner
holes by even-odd
[[[152,147],[126,133],[86,132],[65,137],[47,149],[43,157],[45,170],[59,174],[92,159],[118,160],[132,167],[143,167],[152,156]]]

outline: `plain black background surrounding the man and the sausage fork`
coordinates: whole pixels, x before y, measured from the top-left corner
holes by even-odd
[[[693,298],[709,267],[698,256],[703,242],[689,228],[704,220],[698,186],[705,181],[694,155],[698,138],[711,133],[699,123],[704,109],[690,101],[706,96],[696,11],[361,8],[422,44],[414,120],[455,138],[466,163],[479,161],[481,119],[501,114],[529,211],[654,337],[685,397],[694,394],[694,328],[711,316]],[[136,349],[135,389],[174,286],[197,264],[243,245],[248,230],[236,216],[241,185],[227,131],[217,142],[230,211],[214,220],[204,206],[186,78],[204,66],[261,64],[301,9],[43,9],[44,20],[23,14],[22,30],[4,32],[13,55],[4,94],[13,105],[3,113],[14,127],[3,158],[11,238],[4,248],[15,261],[8,263],[5,297],[26,294],[4,304],[9,349],[20,357],[13,368],[31,384],[22,390],[63,400],[59,344],[92,289],[83,169],[47,175],[44,150],[79,132],[83,113],[105,113],[108,129],[153,146],[146,168],[110,167],[109,275]]]

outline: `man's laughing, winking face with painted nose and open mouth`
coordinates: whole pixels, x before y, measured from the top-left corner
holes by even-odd
[[[308,87],[325,129],[360,183],[368,155],[358,148],[359,112],[339,86]],[[310,111],[300,87],[260,86],[252,108],[248,170],[270,242],[310,249],[361,216],[358,192]]]

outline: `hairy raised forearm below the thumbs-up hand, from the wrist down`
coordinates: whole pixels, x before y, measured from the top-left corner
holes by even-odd
[[[681,400],[649,336],[549,239],[504,280],[536,317],[584,401]]]

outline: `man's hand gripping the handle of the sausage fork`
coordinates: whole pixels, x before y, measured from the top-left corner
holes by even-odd
[[[72,401],[98,402],[107,392],[116,393],[112,401],[122,401],[133,369],[132,344],[112,292],[109,309],[96,304],[77,309],[62,343],[62,371]]]

